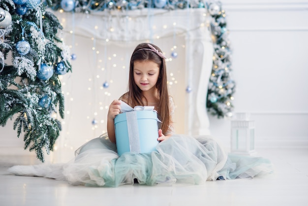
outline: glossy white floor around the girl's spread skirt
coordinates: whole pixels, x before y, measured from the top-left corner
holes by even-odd
[[[0,206],[308,206],[308,149],[264,149],[258,155],[273,162],[275,173],[204,185],[134,184],[118,188],[15,176],[7,168],[29,160],[0,157]]]

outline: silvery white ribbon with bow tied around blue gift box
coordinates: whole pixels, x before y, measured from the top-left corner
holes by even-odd
[[[121,101],[121,112],[126,112],[126,124],[128,131],[128,141],[129,141],[129,150],[131,152],[140,153],[140,140],[139,140],[139,131],[138,127],[138,119],[137,119],[137,111],[155,111],[154,106],[135,106],[132,108],[127,103]],[[161,122],[157,118],[158,122]]]

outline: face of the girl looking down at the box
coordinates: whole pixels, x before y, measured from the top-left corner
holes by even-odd
[[[153,61],[134,62],[134,81],[142,91],[151,91],[156,87],[159,76],[159,67]]]

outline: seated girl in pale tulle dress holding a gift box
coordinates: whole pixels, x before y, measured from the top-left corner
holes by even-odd
[[[253,177],[272,172],[271,163],[260,157],[226,155],[219,144],[207,136],[174,135],[174,104],[168,95],[165,56],[148,43],[139,44],[130,60],[128,92],[114,100],[108,111],[107,133],[94,138],[76,151],[72,162],[58,165],[14,166],[17,175],[45,176],[67,180],[70,184],[116,187],[122,184],[159,183],[201,184],[207,180]],[[121,101],[131,107],[151,105],[162,121],[156,151],[116,152],[114,119]]]

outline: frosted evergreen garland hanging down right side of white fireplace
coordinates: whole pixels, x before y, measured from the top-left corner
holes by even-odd
[[[220,3],[208,5],[212,15],[211,32],[214,41],[212,74],[208,86],[207,109],[218,118],[230,117],[233,111],[235,82],[231,78],[231,48],[228,39],[226,14]]]

